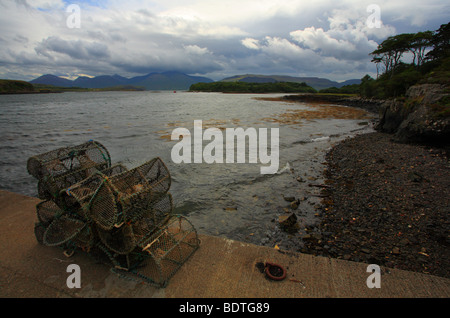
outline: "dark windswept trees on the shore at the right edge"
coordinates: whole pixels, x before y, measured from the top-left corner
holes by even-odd
[[[407,53],[411,63],[402,60]],[[390,36],[369,55],[377,79],[369,75],[361,79],[362,96],[389,98],[403,95],[417,83],[450,84],[450,23],[436,31]]]

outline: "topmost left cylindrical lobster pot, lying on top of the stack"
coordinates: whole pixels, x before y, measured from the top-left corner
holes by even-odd
[[[38,180],[77,170],[92,173],[94,170],[104,170],[111,166],[111,157],[108,150],[99,142],[88,141],[81,145],[55,149],[27,161],[27,170]]]

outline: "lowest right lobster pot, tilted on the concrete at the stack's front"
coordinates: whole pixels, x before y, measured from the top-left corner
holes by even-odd
[[[158,231],[138,242],[143,260],[124,275],[136,275],[159,287],[170,278],[199,247],[197,231],[181,215],[173,215]]]

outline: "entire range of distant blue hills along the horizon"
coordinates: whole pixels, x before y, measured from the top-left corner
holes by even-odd
[[[317,90],[329,87],[340,88],[345,85],[359,84],[361,82],[358,79],[340,83],[319,77],[293,77],[284,75],[256,74],[235,75],[224,78],[221,81],[248,83],[304,82]],[[47,74],[30,81],[31,84],[53,85],[58,87],[107,88],[127,85],[141,87],[146,90],[188,90],[192,84],[211,82],[214,82],[214,80],[202,76],[191,76],[176,71],[162,73],[153,72],[133,78],[126,78],[117,74],[112,76],[101,75],[96,77],[80,76],[75,80],[69,80],[56,75]]]

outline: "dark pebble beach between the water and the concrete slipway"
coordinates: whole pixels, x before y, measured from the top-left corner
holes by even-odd
[[[302,252],[450,278],[447,153],[392,137],[359,135],[327,154],[321,221]]]

